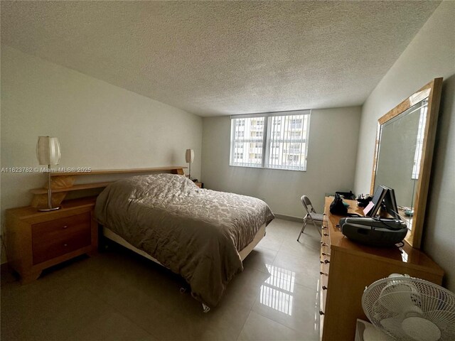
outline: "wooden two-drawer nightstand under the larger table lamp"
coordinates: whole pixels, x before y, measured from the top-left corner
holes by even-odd
[[[22,283],[36,280],[49,266],[96,253],[95,200],[68,200],[60,210],[50,212],[38,212],[35,207],[6,210],[6,254]]]

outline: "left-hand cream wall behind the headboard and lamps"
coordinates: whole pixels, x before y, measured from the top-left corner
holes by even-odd
[[[60,167],[187,166],[200,176],[202,119],[1,46],[1,167],[36,167],[38,136],[58,137]],[[97,179],[99,180],[99,179]],[[1,215],[28,205],[45,175],[1,173]]]

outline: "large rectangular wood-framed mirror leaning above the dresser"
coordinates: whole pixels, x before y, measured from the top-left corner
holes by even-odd
[[[398,214],[409,229],[405,240],[417,249],[427,209],[441,87],[442,78],[435,78],[378,119],[370,193],[378,185],[395,190]]]

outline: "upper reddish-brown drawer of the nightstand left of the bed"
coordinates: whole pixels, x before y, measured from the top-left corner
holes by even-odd
[[[31,225],[33,249],[39,244],[49,242],[50,239],[65,238],[84,230],[90,231],[90,212],[33,224]]]

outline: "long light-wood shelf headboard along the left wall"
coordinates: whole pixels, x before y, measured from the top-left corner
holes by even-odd
[[[52,205],[58,206],[65,199],[68,192],[74,190],[89,190],[92,188],[104,188],[113,181],[104,183],[82,183],[75,185],[77,176],[82,175],[107,175],[107,174],[139,174],[139,173],[169,173],[184,175],[183,166],[168,166],[156,168],[130,168],[130,169],[105,169],[97,171],[84,171],[84,172],[55,172],[50,173],[51,188],[52,188]],[[30,190],[33,193],[31,201],[32,207],[45,205],[48,202],[48,183],[46,182],[43,188],[34,188]]]

